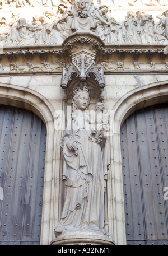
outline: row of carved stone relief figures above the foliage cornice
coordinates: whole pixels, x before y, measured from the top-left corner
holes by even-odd
[[[105,44],[168,43],[168,10],[157,16],[158,24],[152,15],[144,11],[128,11],[125,20],[119,24],[108,16],[107,6],[88,6],[83,0],[70,8],[60,4],[57,14],[46,10],[40,17],[35,15],[30,24],[18,13],[13,12],[12,15],[9,24],[4,17],[1,19],[1,46],[60,45],[74,32],[90,32]]]

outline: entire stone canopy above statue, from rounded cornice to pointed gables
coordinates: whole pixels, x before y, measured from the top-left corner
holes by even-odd
[[[64,99],[72,99],[77,85],[86,85],[91,99],[104,101],[104,63],[96,64],[97,53],[103,45],[99,38],[91,34],[76,34],[64,42],[63,48],[70,57],[70,63],[63,65],[60,85],[64,89]]]

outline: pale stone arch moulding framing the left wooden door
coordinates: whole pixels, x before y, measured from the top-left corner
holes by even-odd
[[[52,240],[54,226],[54,180],[57,180],[57,175],[59,175],[55,172],[57,168],[55,159],[57,160],[57,155],[59,155],[55,147],[58,134],[55,134],[54,131],[54,122],[57,122],[57,117],[55,117],[52,105],[43,95],[34,90],[25,89],[22,86],[0,83],[0,100],[3,105],[16,106],[17,108],[34,112],[46,125],[45,175],[40,241],[41,244],[49,244],[50,240]],[[58,193],[55,192],[54,194]]]

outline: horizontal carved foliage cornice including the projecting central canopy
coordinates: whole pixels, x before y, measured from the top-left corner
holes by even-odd
[[[167,71],[167,54],[167,46],[108,48],[93,38],[77,37],[60,49],[2,51],[0,73],[62,73],[61,86],[68,97],[72,96],[74,85],[85,84],[91,98],[100,99],[105,86],[104,73]]]

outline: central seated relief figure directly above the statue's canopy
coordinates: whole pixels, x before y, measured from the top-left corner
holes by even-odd
[[[77,3],[77,12],[74,13],[74,18],[71,26],[72,32],[94,32],[96,31],[96,21],[90,13],[91,1],[86,4],[84,0]]]

